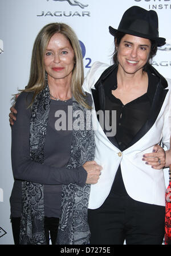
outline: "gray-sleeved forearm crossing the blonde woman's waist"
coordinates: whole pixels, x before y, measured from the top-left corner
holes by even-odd
[[[36,163],[31,159],[21,159],[12,163],[15,179],[47,185],[77,183],[82,186],[86,183],[87,172],[82,166],[79,169],[56,168]]]

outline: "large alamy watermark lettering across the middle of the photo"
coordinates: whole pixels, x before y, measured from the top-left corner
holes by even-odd
[[[93,119],[93,130],[101,128],[105,131],[107,137],[116,135],[116,110],[86,110],[86,115],[82,110],[73,111],[72,106],[68,106],[68,115],[64,110],[57,110],[55,117],[55,129],[57,131],[63,130],[91,130],[91,117],[96,115],[97,118]],[[74,121],[73,121],[74,118]]]

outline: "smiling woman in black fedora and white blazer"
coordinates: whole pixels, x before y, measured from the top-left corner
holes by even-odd
[[[161,244],[164,173],[146,161],[153,153],[145,153],[160,142],[169,149],[171,82],[150,65],[165,38],[158,37],[157,13],[138,6],[125,11],[118,29],[110,26],[109,32],[115,37],[114,65],[95,62],[83,86],[92,93],[96,111],[109,111],[111,126],[112,111],[116,111],[116,134],[112,136],[105,127],[101,129],[95,111],[92,114],[95,160],[103,172],[91,186],[91,244]],[[166,157],[166,166],[167,161]]]

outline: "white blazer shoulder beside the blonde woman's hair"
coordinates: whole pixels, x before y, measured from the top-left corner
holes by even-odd
[[[84,80],[84,84],[83,84],[83,89],[84,90],[91,90],[93,89],[95,83],[97,82],[97,80],[100,78],[101,74],[103,74],[103,72],[108,69],[110,65],[108,65],[107,63],[102,63],[102,62],[94,62],[92,67],[89,69],[86,78]]]

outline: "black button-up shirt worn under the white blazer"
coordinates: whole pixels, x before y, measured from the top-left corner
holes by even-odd
[[[117,147],[121,151],[129,147],[129,143],[132,142],[135,135],[147,121],[158,81],[159,78],[148,73],[148,90],[146,93],[123,105],[120,99],[112,95],[112,90],[117,89],[117,69],[105,79],[103,83],[105,110],[109,110],[110,113],[110,126],[112,125],[111,111],[116,110],[116,135],[114,137],[118,144]],[[106,133],[105,130],[104,132]],[[108,139],[113,143],[114,137],[108,137]],[[121,176],[120,166],[117,170],[111,192],[120,195],[127,194]]]

